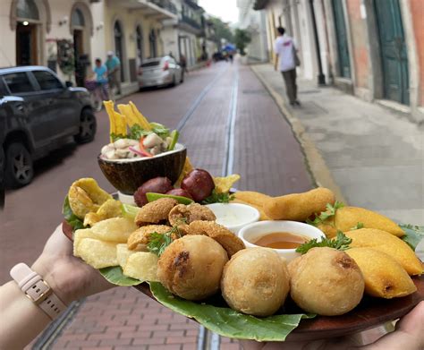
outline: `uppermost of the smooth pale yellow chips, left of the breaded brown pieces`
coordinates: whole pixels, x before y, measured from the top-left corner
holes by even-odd
[[[126,243],[136,229],[137,226],[129,218],[107,218],[91,227],[98,239],[114,243]]]

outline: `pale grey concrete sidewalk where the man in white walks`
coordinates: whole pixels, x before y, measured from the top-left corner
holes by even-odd
[[[281,74],[271,64],[251,69],[292,124],[318,184],[351,205],[424,224],[424,125],[315,81],[298,81],[301,107],[289,107]]]

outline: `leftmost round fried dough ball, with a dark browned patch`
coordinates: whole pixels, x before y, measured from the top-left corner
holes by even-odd
[[[227,261],[225,249],[212,238],[184,235],[160,256],[157,277],[174,295],[202,300],[216,294]]]

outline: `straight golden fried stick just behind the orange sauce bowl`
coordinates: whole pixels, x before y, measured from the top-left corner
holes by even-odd
[[[273,220],[305,221],[314,213],[326,210],[326,204],[335,204],[335,193],[325,187],[309,192],[287,194],[263,201],[267,217]]]

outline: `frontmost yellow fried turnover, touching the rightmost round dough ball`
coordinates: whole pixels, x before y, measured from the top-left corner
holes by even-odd
[[[365,280],[365,293],[392,299],[417,290],[411,277],[390,255],[372,248],[352,248],[346,253],[358,264]]]

